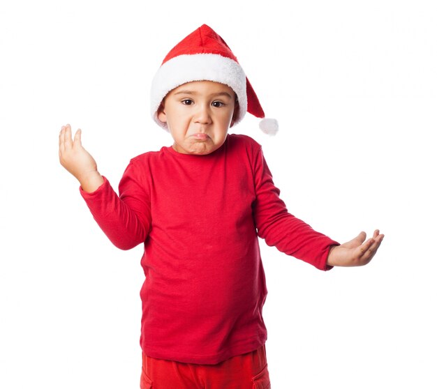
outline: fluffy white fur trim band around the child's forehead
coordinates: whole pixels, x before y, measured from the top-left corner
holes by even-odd
[[[235,123],[247,111],[246,75],[239,63],[219,54],[182,54],[169,59],[158,69],[151,83],[151,116],[162,128],[167,123],[158,119],[158,108],[167,93],[192,81],[215,81],[230,86],[237,94],[239,112]]]

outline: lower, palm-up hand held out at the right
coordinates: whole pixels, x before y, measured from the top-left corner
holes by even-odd
[[[384,235],[376,229],[373,237],[366,240],[366,233],[360,232],[352,241],[331,248],[327,258],[329,266],[363,266],[375,256]]]

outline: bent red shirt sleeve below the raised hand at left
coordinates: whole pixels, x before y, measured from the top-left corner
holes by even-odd
[[[151,225],[150,201],[142,174],[131,162],[119,184],[120,196],[103,178],[103,184],[94,192],[80,188],[80,193],[110,241],[121,250],[129,250],[145,241]]]

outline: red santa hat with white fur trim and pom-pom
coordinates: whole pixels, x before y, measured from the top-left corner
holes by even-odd
[[[225,41],[211,27],[203,24],[181,40],[165,56],[151,84],[151,115],[162,128],[167,123],[158,119],[158,109],[167,93],[177,86],[192,81],[215,81],[230,86],[237,94],[239,111],[235,123],[246,114],[262,119],[260,129],[274,135],[276,119],[263,119],[264,111],[237,57]]]

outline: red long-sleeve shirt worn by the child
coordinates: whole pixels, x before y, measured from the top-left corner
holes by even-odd
[[[321,270],[338,244],[288,213],[261,146],[244,135],[209,155],[139,155],[119,196],[106,179],[81,193],[114,245],[144,243],[140,344],[152,358],[214,364],[265,343],[258,236]]]

